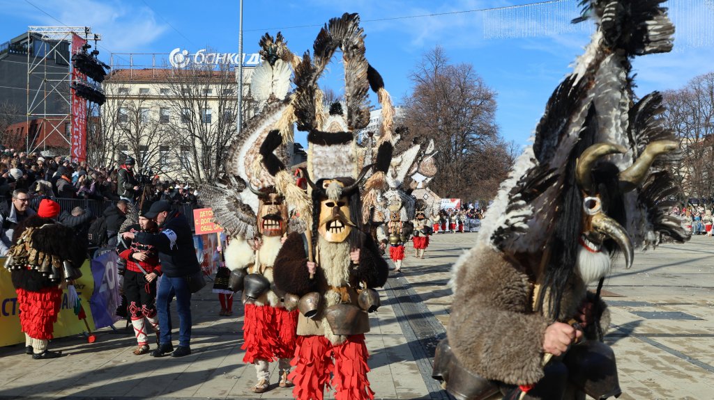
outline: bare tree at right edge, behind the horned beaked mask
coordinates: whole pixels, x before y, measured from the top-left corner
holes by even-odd
[[[663,93],[663,122],[675,132],[683,159],[673,173],[683,196],[714,196],[714,72],[693,78],[680,90]]]

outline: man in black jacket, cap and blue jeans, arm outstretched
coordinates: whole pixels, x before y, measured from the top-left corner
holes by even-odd
[[[159,330],[161,344],[151,352],[154,357],[162,357],[171,353],[172,357],[183,357],[191,354],[191,291],[188,289],[186,277],[201,270],[193,249],[193,233],[186,218],[178,211],[171,211],[168,201],[156,201],[146,214],[146,218],[154,219],[159,226],[159,233],[124,232],[125,239],[134,239],[154,246],[159,251],[163,278],[156,294],[156,310],[159,312]],[[174,351],[171,344],[171,314],[169,300],[176,295],[179,331],[178,347]]]

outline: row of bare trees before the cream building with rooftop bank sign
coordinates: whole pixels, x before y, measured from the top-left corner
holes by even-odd
[[[156,83],[163,93],[119,93],[122,82],[105,85],[107,101],[94,112],[89,129],[90,163],[124,157],[139,169],[213,182],[236,135],[237,85],[232,68],[189,65],[173,68]],[[251,98],[243,97],[243,121],[251,115]]]

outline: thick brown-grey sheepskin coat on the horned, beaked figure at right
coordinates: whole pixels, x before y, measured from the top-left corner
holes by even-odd
[[[533,311],[535,285],[529,267],[488,245],[472,248],[456,267],[458,290],[447,330],[456,357],[486,379],[518,385],[538,382],[543,378],[543,339],[550,319]],[[563,294],[560,321],[575,317],[588,296],[578,280],[574,277]],[[609,325],[604,303],[596,308],[600,315],[594,315],[595,323],[585,330],[588,340],[601,340],[598,332]]]

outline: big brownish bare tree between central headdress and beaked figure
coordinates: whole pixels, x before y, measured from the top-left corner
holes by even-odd
[[[491,199],[513,162],[498,135],[496,93],[473,65],[450,64],[438,46],[410,78],[413,93],[403,100],[408,136],[433,139],[439,152],[431,188],[441,196]]]

